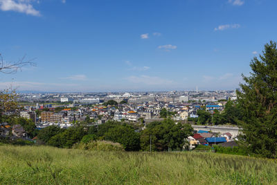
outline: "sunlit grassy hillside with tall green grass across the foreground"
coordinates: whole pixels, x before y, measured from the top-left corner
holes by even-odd
[[[277,184],[277,161],[197,152],[0,146],[0,184]]]

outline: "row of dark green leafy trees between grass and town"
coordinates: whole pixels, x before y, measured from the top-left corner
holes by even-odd
[[[192,134],[191,125],[176,124],[171,119],[165,119],[149,123],[141,132],[129,123],[118,121],[90,127],[78,125],[68,129],[51,125],[39,130],[37,137],[42,144],[58,148],[71,148],[80,141],[105,140],[120,143],[126,151],[150,151],[150,147],[152,151],[165,151],[183,150],[186,137]]]

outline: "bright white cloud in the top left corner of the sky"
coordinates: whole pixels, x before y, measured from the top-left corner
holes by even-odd
[[[26,13],[40,16],[40,12],[33,8],[30,0],[0,0],[0,10]]]

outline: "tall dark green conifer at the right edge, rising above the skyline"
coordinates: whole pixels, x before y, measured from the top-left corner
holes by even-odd
[[[243,76],[237,91],[242,110],[242,142],[250,152],[276,158],[277,151],[277,49],[265,44],[260,59],[251,60],[251,75]]]

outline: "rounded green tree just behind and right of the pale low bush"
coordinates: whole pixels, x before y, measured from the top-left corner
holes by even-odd
[[[104,139],[120,143],[126,151],[137,151],[140,149],[139,133],[128,125],[116,125],[104,134]]]

